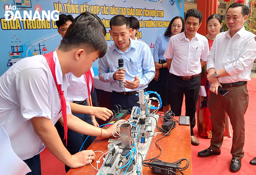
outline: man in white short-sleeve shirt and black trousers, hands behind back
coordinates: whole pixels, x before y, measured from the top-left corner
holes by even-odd
[[[201,86],[202,66],[209,53],[205,36],[197,33],[201,26],[202,13],[190,9],[185,16],[185,31],[172,36],[164,53],[170,70],[170,106],[176,116],[181,115],[185,94],[186,116],[190,117],[191,143],[199,145],[194,136],[195,112]]]

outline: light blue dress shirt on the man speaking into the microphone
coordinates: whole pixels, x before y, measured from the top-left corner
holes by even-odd
[[[125,80],[134,81],[137,76],[140,84],[136,89],[120,88],[119,82],[113,79],[114,72],[118,70],[118,59],[123,58]],[[99,59],[99,79],[103,82],[110,82],[110,88],[116,92],[138,91],[147,88],[147,84],[153,79],[156,71],[154,59],[150,48],[141,41],[130,38],[130,46],[123,53],[115,43],[108,45],[107,53]]]

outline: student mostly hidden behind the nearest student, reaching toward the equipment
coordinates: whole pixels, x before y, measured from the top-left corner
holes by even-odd
[[[90,12],[84,12],[80,15],[78,15],[75,19],[74,22],[80,21],[80,20],[88,20],[92,21],[93,24],[98,26],[104,36],[106,35],[106,28],[104,27],[103,23],[101,22],[100,18],[95,15],[91,14]],[[59,23],[59,21],[58,21]],[[56,48],[57,50],[57,48]],[[85,72],[84,75],[81,77],[75,77],[72,73],[67,74],[67,81],[69,82],[69,86],[67,88],[67,96],[69,98],[70,106],[73,115],[76,117],[80,118],[81,120],[87,122],[88,124],[94,125],[94,126],[99,126],[96,118],[94,115],[90,115],[87,113],[86,109],[83,110],[83,112],[75,112],[73,110],[74,103],[82,105],[82,106],[92,106],[93,102],[97,102],[97,94],[96,92],[93,93],[94,89],[93,88],[93,70],[88,69],[88,72]],[[92,92],[92,93],[90,93]],[[92,94],[92,95],[91,95]],[[96,96],[96,97],[95,97]],[[95,99],[95,101],[92,100],[92,98]],[[97,104],[98,106],[98,104]],[[106,109],[107,110],[107,109]],[[110,111],[109,111],[110,112]],[[97,117],[97,116],[96,116]],[[106,116],[106,118],[101,118],[102,120],[107,120],[109,116]],[[60,122],[57,122],[55,124],[56,129],[58,130],[59,136],[61,139],[64,139],[64,128],[60,124]],[[78,153],[80,150],[81,146],[83,145],[83,142],[85,141],[87,135],[80,134],[78,132],[75,132],[73,130],[68,130],[67,131],[67,136],[68,136],[68,142],[67,142],[67,150],[71,154]],[[83,145],[83,149],[87,149],[90,144],[94,141],[96,137],[90,136],[86,139],[85,144]],[[65,142],[63,141],[65,144]],[[69,171],[69,167],[65,166],[66,172]]]

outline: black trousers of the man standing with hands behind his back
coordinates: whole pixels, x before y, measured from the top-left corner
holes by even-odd
[[[170,77],[170,106],[175,116],[180,116],[182,111],[183,96],[185,94],[186,116],[190,117],[191,136],[194,136],[195,112],[199,98],[201,77],[197,76],[190,80],[182,80],[175,75]]]

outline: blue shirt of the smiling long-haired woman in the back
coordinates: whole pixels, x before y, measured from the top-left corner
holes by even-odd
[[[159,59],[166,61],[166,59],[164,58],[164,52],[167,48],[168,42],[169,37],[164,36],[164,34],[161,34],[157,37],[153,52],[154,62],[158,63]]]

